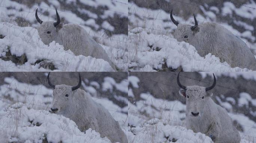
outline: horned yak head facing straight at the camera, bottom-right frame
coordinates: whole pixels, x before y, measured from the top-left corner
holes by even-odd
[[[177,76],[177,83],[181,88],[179,94],[186,98],[186,115],[201,117],[204,113],[205,106],[207,106],[207,101],[211,100],[211,96],[213,95],[209,90],[213,89],[216,85],[214,74],[213,85],[207,88],[202,86],[184,86],[180,83],[179,74]]]

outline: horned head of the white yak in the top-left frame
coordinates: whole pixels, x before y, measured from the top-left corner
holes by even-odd
[[[42,20],[39,19],[37,15],[37,9],[36,9],[36,20],[38,23],[40,23],[40,26],[38,28],[38,33],[43,43],[46,45],[48,45],[52,41],[56,41],[56,39],[58,38],[58,32],[63,27],[63,24],[60,23],[61,20],[57,12],[57,9],[55,10],[57,15],[57,22],[50,22],[50,21],[43,22]]]

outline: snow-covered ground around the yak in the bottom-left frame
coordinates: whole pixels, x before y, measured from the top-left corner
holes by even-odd
[[[93,96],[94,101],[103,105],[127,133],[128,106],[121,108],[108,98],[99,98],[95,94],[95,90],[113,86],[127,93],[128,90],[124,90],[128,89],[128,84],[124,83],[127,79],[117,83],[112,77],[106,78],[99,89],[93,88],[101,87],[96,81],[90,82],[91,86],[85,86],[84,83],[82,85]],[[21,83],[13,77],[4,78],[4,84],[0,85],[0,142],[111,143],[107,137],[101,138],[91,128],[83,133],[74,121],[50,113],[52,91],[43,85]],[[120,97],[116,99],[124,101]]]

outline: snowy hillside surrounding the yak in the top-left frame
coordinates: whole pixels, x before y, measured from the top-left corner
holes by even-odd
[[[127,6],[125,0],[1,0],[0,71],[114,71],[101,59],[74,56],[55,42],[44,45],[36,29],[37,8],[44,21],[55,21],[57,8],[61,22],[82,26],[106,50],[117,70],[125,71]]]

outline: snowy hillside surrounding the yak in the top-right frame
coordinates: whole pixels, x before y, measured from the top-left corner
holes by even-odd
[[[219,58],[210,53],[205,57],[200,57],[192,45],[177,42],[173,38],[173,32],[177,26],[170,20],[170,10],[174,9],[176,13],[186,13],[189,10],[198,11],[195,15],[199,24],[204,22],[220,23],[232,34],[241,38],[256,55],[253,22],[256,3],[248,1],[246,4],[240,4],[239,7],[228,1],[216,2],[219,3],[218,7],[214,6],[214,2],[209,1],[209,3],[212,6],[198,1],[193,4],[192,1],[187,3],[179,0],[148,1],[146,3],[130,0],[128,3],[128,37],[131,43],[129,70],[247,71],[248,69],[239,67],[231,68],[226,62],[220,63]],[[182,10],[183,8],[185,10]],[[174,19],[180,23],[193,25],[193,12],[191,11],[188,12],[188,15],[174,15]]]

